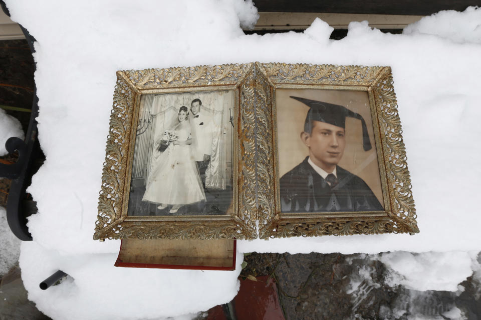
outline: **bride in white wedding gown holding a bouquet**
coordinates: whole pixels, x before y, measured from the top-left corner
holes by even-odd
[[[162,139],[166,140],[168,146],[163,151],[153,151],[162,153],[152,167],[142,201],[160,204],[159,209],[173,205],[169,212],[175,213],[183,204],[205,200],[200,174],[193,157],[186,106],[180,107],[178,122],[164,132]]]

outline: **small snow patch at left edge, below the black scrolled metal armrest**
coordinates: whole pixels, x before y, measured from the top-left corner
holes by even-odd
[[[7,211],[0,206],[0,278],[17,263],[20,255],[20,240],[10,231]]]

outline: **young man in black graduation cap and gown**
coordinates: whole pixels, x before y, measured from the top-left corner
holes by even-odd
[[[371,149],[363,117],[342,105],[297,96],[291,98],[310,108],[301,132],[309,156],[281,177],[281,211],[384,210],[363,179],[337,165],[346,145],[346,116],[361,120],[364,151]]]

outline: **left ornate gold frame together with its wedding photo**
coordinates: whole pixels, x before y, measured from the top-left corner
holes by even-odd
[[[93,238],[256,238],[254,83],[254,63],[118,71]],[[200,106],[202,99],[217,106]],[[217,143],[215,155],[207,151],[200,154],[209,153],[204,154],[207,168],[203,177],[192,170],[194,166],[198,170],[197,165],[186,155],[194,153],[194,136],[197,141],[205,141],[205,133],[194,132],[200,130],[194,127],[199,108],[211,112],[209,120],[197,120],[202,130],[209,124],[207,147]],[[168,117],[166,112],[170,112]],[[192,118],[192,129],[184,125],[188,117]],[[147,138],[141,139],[147,130]],[[141,172],[138,183],[134,181],[137,167]],[[212,177],[214,170],[220,173]],[[214,204],[208,207],[179,209],[177,200],[157,199],[165,189],[164,182],[170,183],[167,187],[177,187],[170,198],[183,197],[180,203],[208,203],[206,193],[216,189],[221,196],[209,194],[210,199],[223,196],[225,200],[225,194],[230,194],[229,203],[222,202],[222,208],[212,200]],[[189,187],[179,188],[182,183]],[[210,189],[210,183],[217,185]],[[136,190],[150,190],[153,195],[137,196]]]

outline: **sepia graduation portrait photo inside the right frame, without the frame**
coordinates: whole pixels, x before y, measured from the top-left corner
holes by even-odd
[[[281,212],[383,211],[366,91],[277,89]]]

